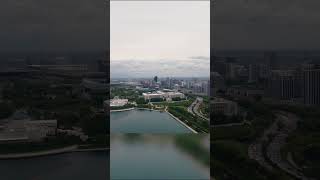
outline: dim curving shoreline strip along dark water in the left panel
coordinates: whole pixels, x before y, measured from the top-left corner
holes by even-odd
[[[46,150],[46,151],[0,154],[0,160],[36,158],[36,157],[50,156],[50,155],[57,155],[57,154],[64,154],[64,153],[72,153],[72,152],[107,151],[109,149],[110,148],[79,149],[78,145],[72,145],[72,146],[67,146],[64,148],[51,149],[51,150]]]

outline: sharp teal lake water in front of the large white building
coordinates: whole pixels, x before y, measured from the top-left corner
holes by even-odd
[[[112,112],[110,130],[115,133],[191,133],[166,112],[131,110]]]

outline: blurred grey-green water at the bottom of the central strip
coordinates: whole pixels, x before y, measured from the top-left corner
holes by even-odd
[[[112,180],[210,178],[209,167],[179,147],[172,135],[111,135],[110,172]]]

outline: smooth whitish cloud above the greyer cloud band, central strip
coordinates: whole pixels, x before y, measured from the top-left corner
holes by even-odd
[[[209,55],[209,1],[112,1],[112,59]]]

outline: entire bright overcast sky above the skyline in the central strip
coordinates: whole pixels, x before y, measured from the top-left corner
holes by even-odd
[[[111,1],[111,77],[205,77],[209,1]]]

